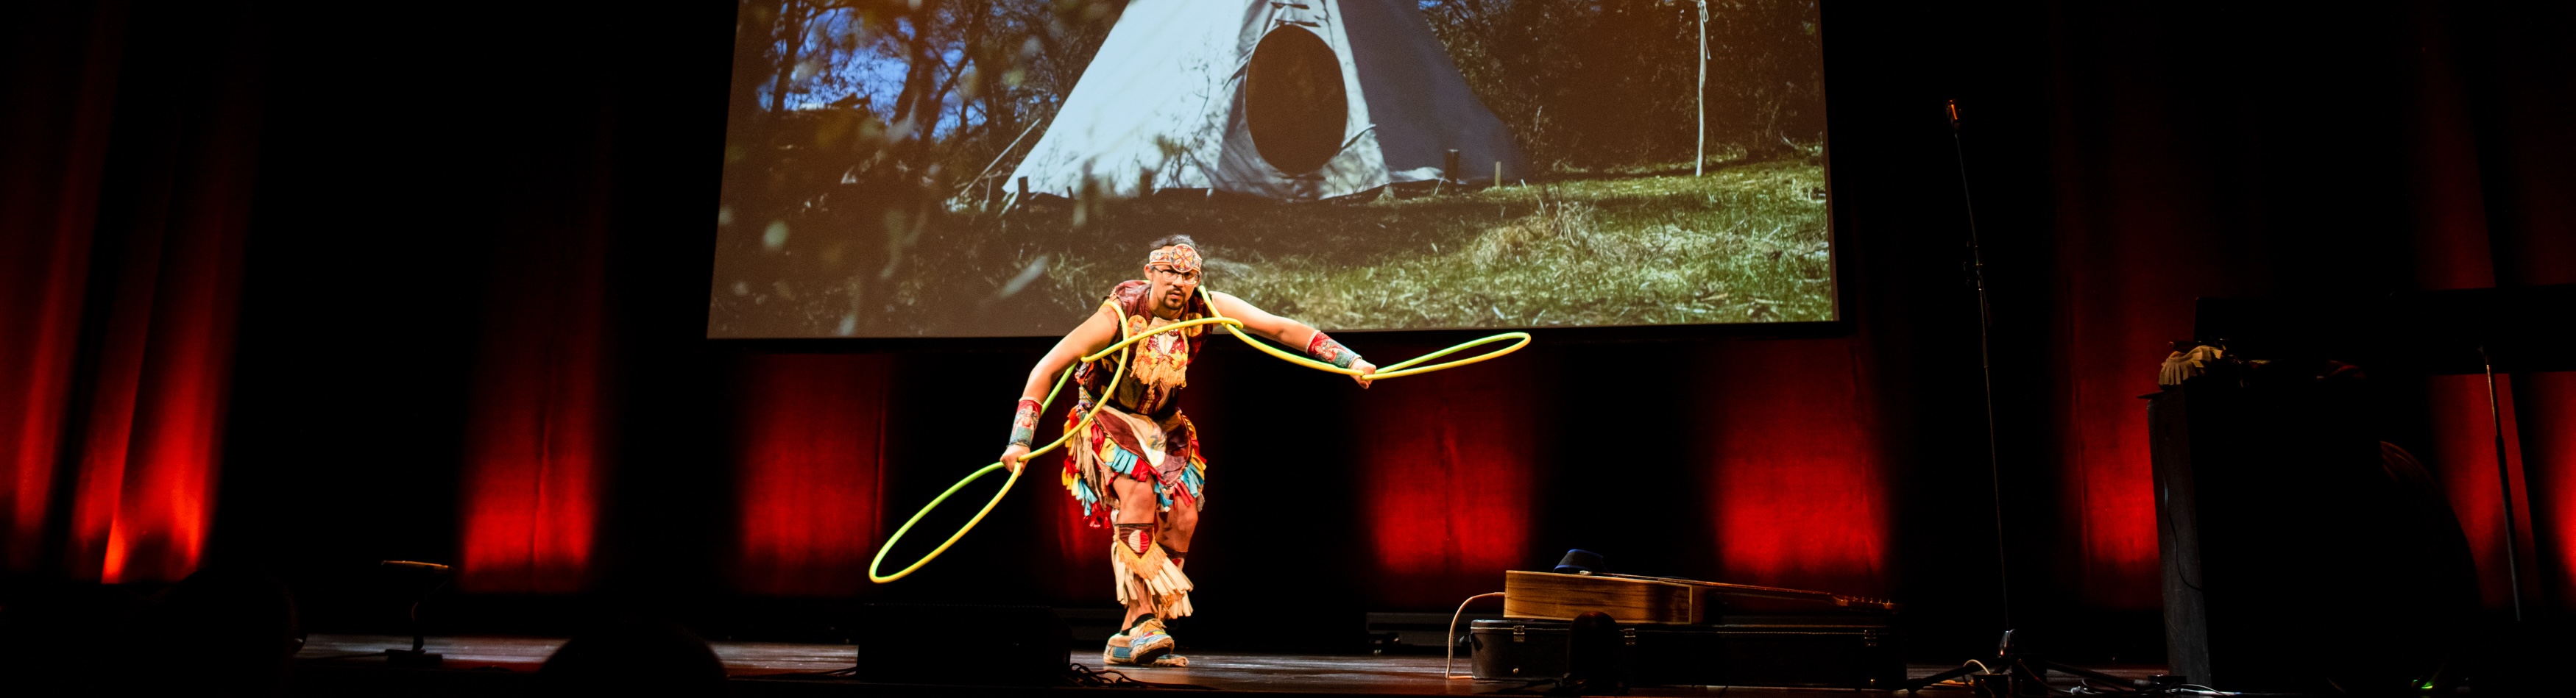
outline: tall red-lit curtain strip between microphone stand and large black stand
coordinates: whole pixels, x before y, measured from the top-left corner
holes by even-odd
[[[2069,77],[2074,80],[2074,77]],[[2076,90],[2074,85],[2066,85]],[[2058,252],[2050,286],[2050,410],[2058,458],[2061,549],[2074,595],[2092,608],[2159,608],[2156,510],[2138,394],[2156,389],[2159,348],[2190,337],[2192,299],[2226,294],[2223,224],[2184,180],[2164,100],[2146,80],[2120,82],[2053,144]],[[2074,108],[2074,106],[2069,106]],[[2099,131],[2120,134],[2117,139]],[[2097,162],[2120,162],[2102,173]]]

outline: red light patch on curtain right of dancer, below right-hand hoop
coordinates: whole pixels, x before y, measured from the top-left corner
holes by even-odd
[[[1538,422],[1520,379],[1445,371],[1378,384],[1355,402],[1378,603],[1453,605],[1525,564]]]

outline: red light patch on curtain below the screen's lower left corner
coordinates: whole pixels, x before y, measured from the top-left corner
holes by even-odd
[[[876,551],[886,446],[878,353],[752,355],[734,425],[737,585],[760,595],[858,595]]]

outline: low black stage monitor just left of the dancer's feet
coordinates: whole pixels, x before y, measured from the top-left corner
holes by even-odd
[[[871,603],[858,677],[930,685],[1064,685],[1074,644],[1046,605]]]

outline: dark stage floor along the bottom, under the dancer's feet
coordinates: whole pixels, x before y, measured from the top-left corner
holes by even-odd
[[[515,636],[433,636],[430,652],[446,654],[440,670],[386,667],[381,649],[410,646],[407,636],[312,636],[296,654],[299,695],[528,695],[531,677],[562,639]],[[716,657],[734,675],[734,695],[1064,695],[1064,693],[1144,693],[1144,688],[927,688],[814,677],[850,667],[855,646],[786,641],[716,641]],[[363,654],[363,657],[361,657]],[[1440,677],[1443,657],[1425,654],[1252,654],[1188,652],[1188,670],[1126,670],[1149,683],[1188,683],[1216,690],[1267,695],[1481,695],[1522,688],[1522,680]],[[1097,652],[1072,652],[1072,662],[1100,667]],[[866,667],[884,680],[899,680],[902,667]],[[1914,665],[1924,677],[1947,665]],[[2164,667],[2099,667],[2123,677],[2148,677]],[[1458,659],[1466,672],[1466,659]],[[2074,677],[2063,677],[2074,688]],[[1172,693],[1172,690],[1154,690]],[[1535,693],[1535,690],[1528,690]],[[1628,695],[1852,695],[1842,688],[1636,688]],[[1870,690],[1875,693],[1875,690]],[[1963,688],[1929,688],[1927,695],[1965,695]]]

